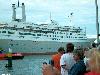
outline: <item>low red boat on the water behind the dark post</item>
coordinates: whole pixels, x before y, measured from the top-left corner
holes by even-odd
[[[23,59],[24,55],[22,53],[12,53],[11,56],[12,60]],[[8,54],[0,54],[0,60],[8,60]]]

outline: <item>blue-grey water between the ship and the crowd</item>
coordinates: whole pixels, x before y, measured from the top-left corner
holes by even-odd
[[[42,75],[42,63],[49,62],[50,55],[25,56],[23,60],[13,60],[12,69],[7,69],[7,60],[0,61],[0,75]]]

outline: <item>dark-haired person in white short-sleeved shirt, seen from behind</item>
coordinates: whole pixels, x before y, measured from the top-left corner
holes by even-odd
[[[74,45],[72,43],[68,43],[66,45],[66,53],[61,56],[60,66],[61,66],[61,75],[68,75],[69,69],[75,64],[73,59],[73,50]]]

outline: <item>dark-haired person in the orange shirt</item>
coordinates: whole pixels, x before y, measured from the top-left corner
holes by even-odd
[[[52,55],[52,61],[54,62],[54,67],[57,68],[59,71],[61,71],[60,58],[61,58],[62,54],[64,54],[64,47],[60,47],[58,49],[58,53]]]

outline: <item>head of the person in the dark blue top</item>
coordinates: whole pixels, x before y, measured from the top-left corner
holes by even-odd
[[[73,57],[74,57],[75,61],[83,60],[84,59],[84,52],[83,52],[83,50],[77,50],[77,49],[75,49],[73,51],[73,55],[74,55]]]

